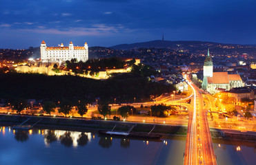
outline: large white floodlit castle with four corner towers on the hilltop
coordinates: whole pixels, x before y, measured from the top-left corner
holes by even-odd
[[[74,46],[70,42],[68,47],[64,47],[63,43],[59,47],[46,47],[46,43],[41,43],[41,62],[43,63],[61,63],[62,61],[70,61],[77,58],[77,61],[88,61],[88,45],[83,47]]]

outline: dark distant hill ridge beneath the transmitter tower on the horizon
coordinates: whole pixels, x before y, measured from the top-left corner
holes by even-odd
[[[172,48],[177,47],[177,45],[219,45],[219,43],[207,42],[207,41],[148,41],[143,43],[131,43],[131,44],[120,44],[112,46],[112,49],[116,50],[130,50],[137,48]],[[230,45],[230,44],[228,44]]]

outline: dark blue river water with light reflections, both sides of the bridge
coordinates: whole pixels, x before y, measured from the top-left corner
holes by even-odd
[[[186,137],[158,141],[96,132],[0,129],[0,164],[183,164]],[[253,143],[213,140],[217,164],[255,164]]]

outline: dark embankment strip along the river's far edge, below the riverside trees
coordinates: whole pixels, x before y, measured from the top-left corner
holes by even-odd
[[[0,115],[0,124],[4,126],[14,126],[21,124],[25,120],[26,124],[35,124],[34,127],[38,129],[68,129],[72,131],[110,131],[115,126],[115,131],[128,131],[131,126],[135,125],[132,129],[133,132],[148,133],[152,130],[152,134],[159,134],[165,136],[186,136],[187,126],[177,126],[170,124],[151,124],[151,123],[135,123],[135,122],[122,122],[112,120],[88,120],[88,119],[72,119],[72,118],[50,118],[42,116],[28,116],[28,115]],[[235,139],[235,140],[256,140],[256,133],[246,134],[239,131],[223,131],[220,129],[210,129],[213,138]]]

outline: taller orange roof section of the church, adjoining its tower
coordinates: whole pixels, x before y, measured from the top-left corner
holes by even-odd
[[[209,84],[229,84],[228,72],[213,72],[213,77],[208,77]]]

